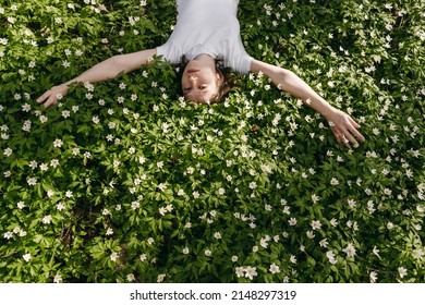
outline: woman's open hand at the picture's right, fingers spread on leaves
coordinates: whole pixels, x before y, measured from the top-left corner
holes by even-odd
[[[328,120],[337,142],[347,148],[351,149],[350,143],[353,144],[354,148],[359,147],[356,138],[365,142],[365,137],[357,131],[361,127],[360,124],[345,112],[333,108],[325,118]]]

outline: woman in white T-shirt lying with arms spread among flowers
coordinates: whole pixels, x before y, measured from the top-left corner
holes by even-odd
[[[338,143],[351,149],[365,141],[357,131],[360,125],[347,113],[333,108],[293,72],[250,57],[240,37],[236,17],[239,0],[177,0],[178,20],[168,41],[154,49],[114,56],[90,68],[80,76],[52,87],[37,101],[47,108],[66,94],[71,83],[96,83],[114,78],[148,64],[154,56],[177,64],[184,57],[189,63],[182,73],[182,91],[194,102],[219,100],[226,88],[226,80],[217,65],[222,57],[223,65],[239,73],[262,72],[279,89],[302,99],[329,122]],[[357,138],[357,139],[356,139]]]

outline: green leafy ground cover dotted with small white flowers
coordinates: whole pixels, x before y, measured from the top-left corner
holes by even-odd
[[[262,75],[220,105],[175,69],[78,84],[161,45],[171,0],[0,1],[0,281],[424,282],[425,1],[240,4],[248,53],[361,123],[328,124]]]

